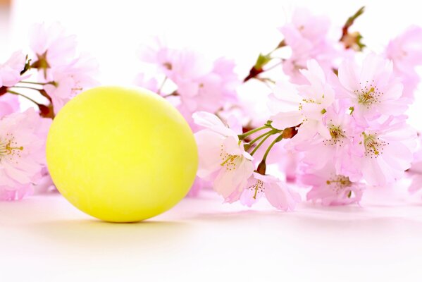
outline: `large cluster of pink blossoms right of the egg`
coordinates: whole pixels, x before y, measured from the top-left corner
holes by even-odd
[[[178,109],[196,132],[197,176],[225,202],[250,207],[265,196],[287,211],[301,201],[297,188],[304,187],[312,202],[359,204],[366,188],[395,183],[406,171],[416,173],[411,190],[422,187],[416,169],[420,158],[415,159],[418,137],[405,115],[420,82],[422,29],[410,27],[385,51],[359,59],[365,45],[361,34],[349,29],[362,13],[364,8],[332,38],[328,18],[294,11],[280,28],[280,44],[260,54],[243,80],[261,80],[272,89],[266,123],[252,128],[228,113],[236,92],[225,85],[238,81],[232,66],[218,73],[221,60],[213,65],[204,56],[166,47],[142,57],[159,65],[165,81],[174,82],[176,90],[163,96],[178,97]],[[286,48],[289,56],[274,55]],[[288,80],[266,76],[276,66]],[[214,82],[209,91],[202,90],[208,86],[204,81]],[[148,83],[162,94],[156,81]]]

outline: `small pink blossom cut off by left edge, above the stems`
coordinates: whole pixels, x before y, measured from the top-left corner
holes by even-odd
[[[15,51],[5,63],[0,63],[0,87],[11,87],[21,80],[25,61],[22,51]]]

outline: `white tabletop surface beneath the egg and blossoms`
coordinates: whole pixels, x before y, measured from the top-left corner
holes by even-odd
[[[205,192],[129,224],[60,195],[1,202],[0,281],[421,281],[422,203],[394,197],[283,213]]]

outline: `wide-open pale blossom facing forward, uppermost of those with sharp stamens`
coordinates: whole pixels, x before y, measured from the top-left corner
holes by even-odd
[[[392,71],[392,63],[369,54],[361,66],[351,60],[340,65],[338,78],[345,91],[343,97],[353,107],[353,115],[362,123],[380,116],[398,116],[407,109],[402,97],[403,85]]]

